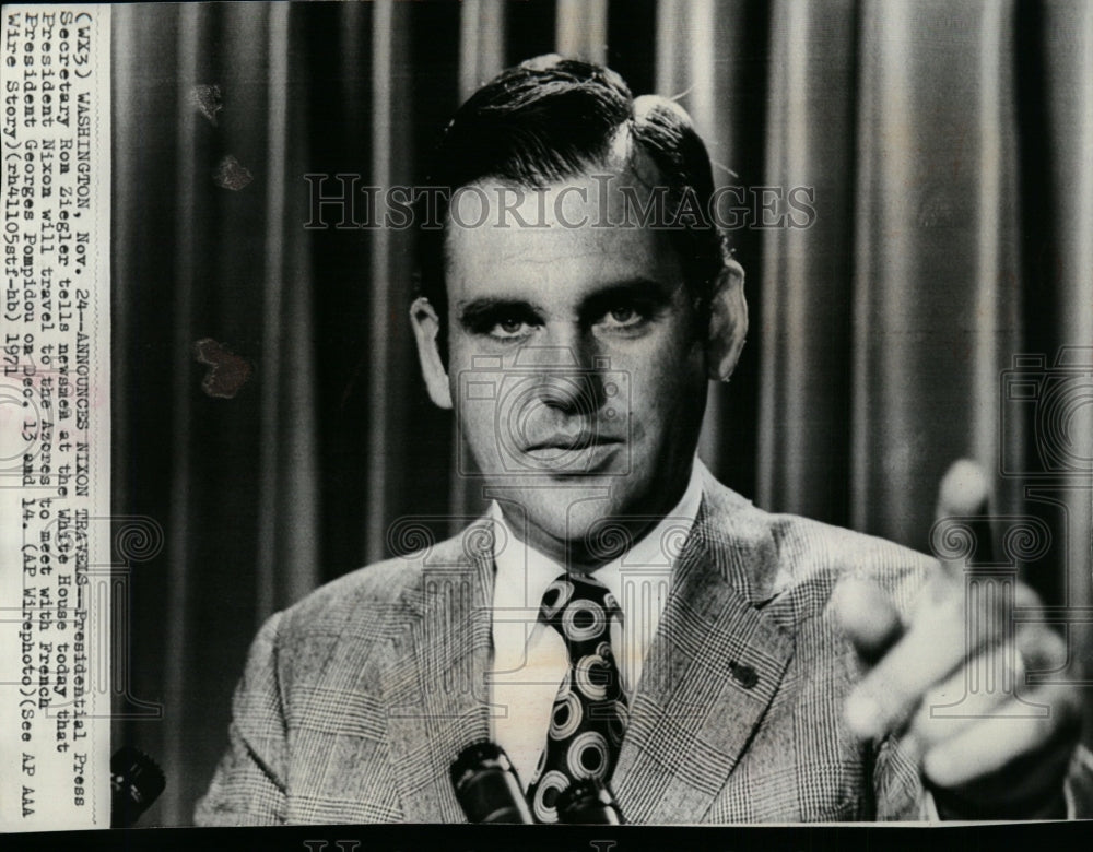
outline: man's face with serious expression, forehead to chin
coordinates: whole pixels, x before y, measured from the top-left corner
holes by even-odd
[[[704,340],[668,235],[595,226],[604,192],[608,221],[623,220],[625,186],[647,202],[628,171],[607,190],[591,177],[542,198],[524,190],[518,203],[508,190],[515,211],[498,222],[504,190],[484,182],[489,221],[449,223],[448,381],[461,431],[487,496],[555,556],[606,517],[669,511],[705,406]],[[481,197],[465,198],[474,208]],[[579,546],[569,555],[597,561]]]

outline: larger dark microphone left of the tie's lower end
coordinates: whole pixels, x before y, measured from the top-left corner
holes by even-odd
[[[451,784],[469,823],[534,823],[516,770],[496,743],[472,743],[460,752]]]

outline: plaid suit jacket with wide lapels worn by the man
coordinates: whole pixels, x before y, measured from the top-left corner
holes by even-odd
[[[463,821],[448,767],[489,738],[485,521],[317,590],[261,628],[200,825]],[[933,561],[768,514],[705,474],[612,789],[631,823],[924,818],[916,767],[842,723],[847,576],[906,610]]]

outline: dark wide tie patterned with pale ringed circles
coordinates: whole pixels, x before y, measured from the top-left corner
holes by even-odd
[[[574,781],[611,778],[626,730],[626,695],[611,653],[614,595],[590,577],[563,573],[543,594],[540,617],[562,635],[569,671],[551,709],[546,745],[528,784],[539,823],[556,823],[555,802]]]

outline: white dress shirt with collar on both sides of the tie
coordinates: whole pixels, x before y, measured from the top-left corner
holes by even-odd
[[[630,698],[660,624],[672,569],[698,514],[702,470],[702,462],[695,459],[691,481],[675,508],[630,549],[592,575],[615,596],[623,612],[623,624],[612,619],[611,647]],[[491,512],[501,528],[494,545],[497,572],[489,677],[493,738],[505,749],[526,789],[546,742],[559,685],[569,666],[562,637],[539,620],[543,592],[565,568],[520,541],[496,502]]]

